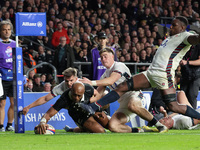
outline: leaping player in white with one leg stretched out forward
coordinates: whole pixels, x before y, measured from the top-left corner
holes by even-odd
[[[199,34],[193,35],[186,32],[187,25],[188,20],[183,16],[173,19],[170,27],[170,36],[157,49],[148,70],[134,75],[127,81],[119,84],[115,90],[97,102],[90,104],[90,106],[94,110],[98,110],[100,107],[116,101],[127,91],[156,87],[160,90],[162,99],[169,110],[200,119],[200,113],[189,106],[179,105],[176,101],[175,69],[190,46],[200,43]]]

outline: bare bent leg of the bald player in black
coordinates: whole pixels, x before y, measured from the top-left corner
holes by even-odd
[[[94,119],[93,116],[90,116],[84,123],[83,129],[91,133],[104,133],[104,128]]]

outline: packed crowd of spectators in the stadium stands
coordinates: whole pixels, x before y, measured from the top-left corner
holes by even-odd
[[[62,71],[69,67],[76,67],[74,61],[92,62],[91,50],[98,47],[98,33],[102,31],[108,38],[107,46],[116,49],[118,61],[151,63],[156,49],[168,36],[167,31],[161,34],[158,30],[162,17],[174,18],[182,15],[188,18],[190,24],[200,27],[200,8],[196,0],[2,0],[0,2],[0,21],[11,21],[14,30],[17,12],[47,14],[45,37],[20,37],[25,73],[32,66],[42,62],[54,65],[58,75],[62,75]],[[132,66],[129,67],[133,73]],[[82,72],[91,73],[91,68],[82,67]],[[147,66],[140,66],[138,72],[146,69]],[[52,76],[52,69],[45,65],[30,71],[28,76],[30,81],[27,82],[25,90],[46,91],[41,88],[45,83],[49,83],[46,86],[54,87],[56,83]],[[49,88],[46,89],[49,91]]]

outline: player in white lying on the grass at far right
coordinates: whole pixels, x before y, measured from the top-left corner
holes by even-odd
[[[177,101],[179,104],[191,106],[184,91],[178,92]],[[200,112],[200,109],[197,109],[197,111]],[[167,126],[169,129],[199,129],[200,127],[200,120],[198,119],[193,119],[191,117],[176,113],[172,113],[168,116],[166,110],[162,106],[160,107],[160,112],[164,114],[164,118],[160,119],[160,122],[165,124],[165,126]]]

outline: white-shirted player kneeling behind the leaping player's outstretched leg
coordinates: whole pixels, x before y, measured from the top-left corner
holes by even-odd
[[[124,63],[114,61],[114,52],[111,48],[104,48],[99,54],[103,66],[106,67],[106,71],[101,76],[100,80],[90,81],[87,78],[83,78],[82,80],[80,79],[80,81],[98,86],[97,91],[103,95],[106,86],[114,90],[120,83],[130,78],[131,73]],[[120,106],[109,121],[108,128],[112,132],[138,132],[137,128],[131,128],[126,125],[131,117],[135,117],[136,114],[147,121],[155,119],[153,115],[144,108],[145,99],[143,94],[139,91],[126,92],[118,102]],[[163,126],[159,122],[155,124],[157,127]]]

